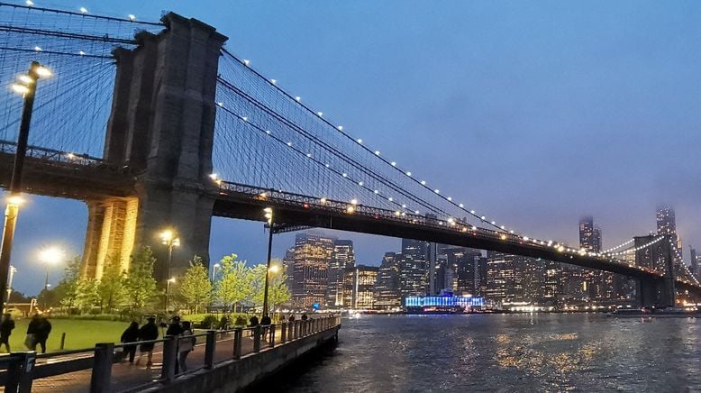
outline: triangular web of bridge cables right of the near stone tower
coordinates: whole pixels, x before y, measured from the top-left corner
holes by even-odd
[[[226,50],[220,59],[217,105],[214,168],[220,178],[417,220],[431,215],[442,224],[507,231],[399,170]]]

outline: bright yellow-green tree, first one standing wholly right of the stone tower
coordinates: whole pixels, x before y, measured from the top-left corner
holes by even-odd
[[[214,297],[229,309],[249,297],[250,293],[247,282],[250,272],[246,268],[246,261],[236,258],[238,255],[232,254],[219,261],[221,279],[216,282],[214,289]]]

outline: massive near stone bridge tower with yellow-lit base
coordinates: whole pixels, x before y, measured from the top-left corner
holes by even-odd
[[[193,255],[209,260],[214,94],[227,38],[178,14],[161,21],[163,32],[136,34],[136,49],[114,50],[117,74],[104,158],[129,168],[134,189],[130,197],[88,201],[87,277],[99,279],[115,256],[128,269],[132,252],[149,245],[159,259],[156,278],[165,280],[159,233],[167,228],[181,243],[173,252],[173,274],[186,269]]]

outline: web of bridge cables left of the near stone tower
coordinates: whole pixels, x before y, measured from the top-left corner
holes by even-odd
[[[53,75],[37,86],[29,143],[102,157],[114,91],[117,46],[136,47],[134,33],[158,32],[137,22],[0,3],[0,140],[17,138],[23,100],[10,86],[32,61]]]

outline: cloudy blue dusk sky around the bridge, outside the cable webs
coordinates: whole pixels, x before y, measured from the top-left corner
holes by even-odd
[[[306,105],[521,233],[577,244],[579,217],[594,215],[606,248],[654,231],[668,204],[685,259],[689,244],[701,248],[699,2],[34,3],[209,23]],[[42,245],[82,252],[86,215],[78,201],[29,198],[14,288],[41,289]],[[334,234],[355,242],[362,264],[399,249]],[[274,256],[293,239],[277,236]],[[210,252],[265,260],[262,224],[214,218]]]

